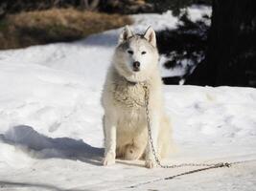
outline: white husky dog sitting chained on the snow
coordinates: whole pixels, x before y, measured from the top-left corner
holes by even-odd
[[[167,157],[171,126],[164,112],[158,57],[155,32],[151,27],[141,35],[133,34],[126,26],[106,75],[102,96],[104,165],[115,163],[116,158],[145,159],[148,168],[156,165],[148,140],[144,83],[150,96],[154,148],[158,158]]]

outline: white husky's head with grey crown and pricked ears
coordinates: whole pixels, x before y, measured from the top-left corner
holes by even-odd
[[[113,56],[118,73],[128,81],[147,80],[158,63],[155,32],[151,27],[144,34],[133,34],[128,26],[120,34],[119,44]]]

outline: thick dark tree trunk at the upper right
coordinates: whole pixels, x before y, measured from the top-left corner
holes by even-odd
[[[186,84],[256,87],[256,4],[214,0],[209,46]]]

